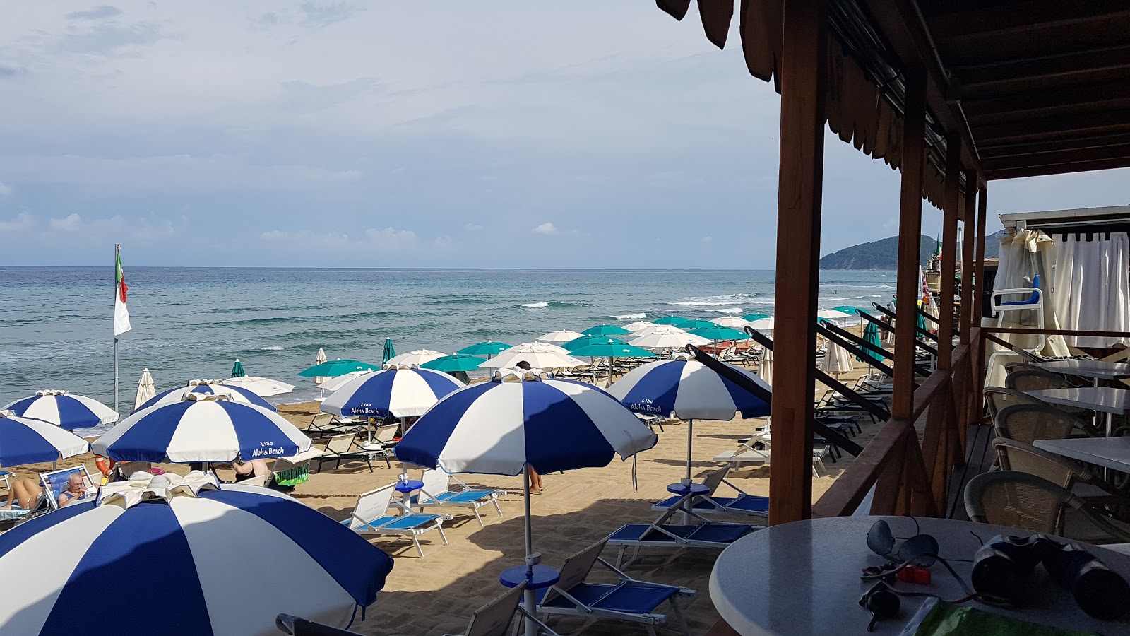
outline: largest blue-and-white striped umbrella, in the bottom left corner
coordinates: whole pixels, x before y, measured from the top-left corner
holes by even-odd
[[[101,625],[111,634],[271,636],[280,612],[347,627],[392,569],[364,538],[286,495],[217,488],[200,473],[162,488],[164,478],[103,487],[99,501],[0,535],[0,569],[27,575],[5,591],[0,634]],[[92,596],[107,585],[114,594]]]

